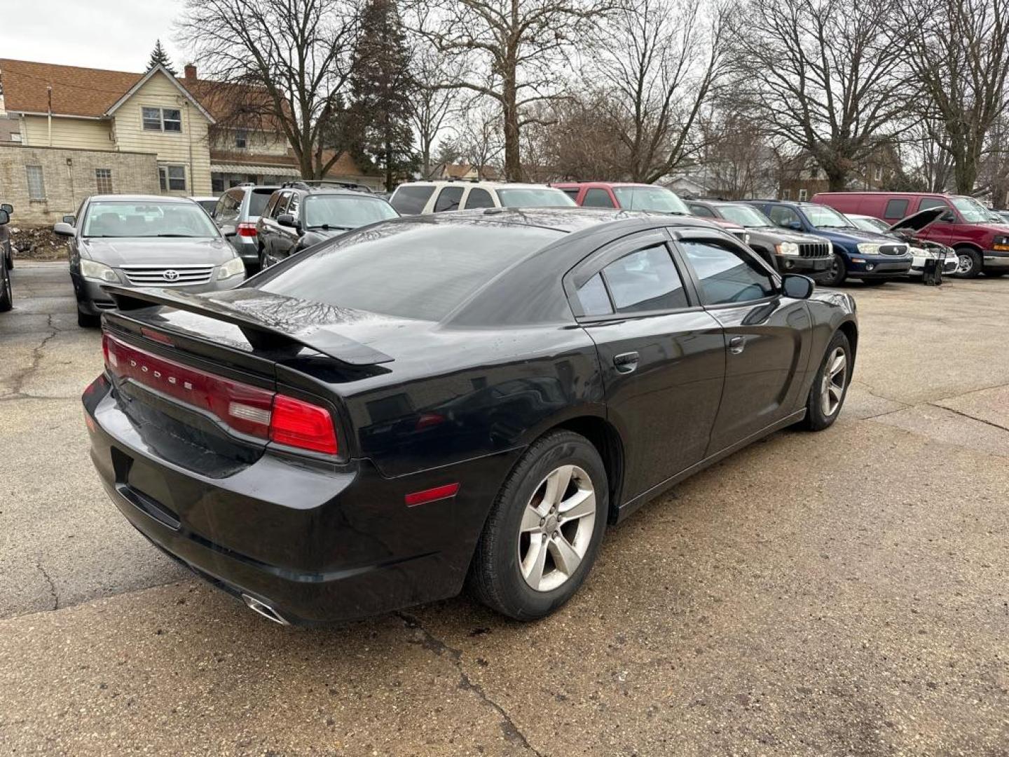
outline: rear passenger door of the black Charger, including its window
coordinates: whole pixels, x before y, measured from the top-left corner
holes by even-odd
[[[702,459],[721,397],[722,329],[691,300],[669,241],[663,228],[625,237],[565,278],[624,439],[625,501]]]

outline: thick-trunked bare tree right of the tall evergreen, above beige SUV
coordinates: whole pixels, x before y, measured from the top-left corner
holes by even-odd
[[[521,134],[536,122],[531,107],[557,97],[565,52],[588,36],[610,0],[437,0],[427,32],[445,56],[465,61],[466,73],[445,86],[495,101],[504,142],[504,174],[523,178]]]

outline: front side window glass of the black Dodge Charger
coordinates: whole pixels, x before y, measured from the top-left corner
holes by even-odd
[[[685,241],[683,250],[700,282],[704,305],[749,302],[774,294],[774,283],[741,251],[712,241]]]

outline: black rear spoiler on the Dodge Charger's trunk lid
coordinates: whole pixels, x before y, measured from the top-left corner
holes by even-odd
[[[278,349],[298,352],[309,347],[324,355],[350,365],[375,365],[391,362],[384,352],[372,349],[366,344],[341,336],[321,325],[310,333],[285,331],[257,318],[246,315],[237,308],[224,303],[196,297],[184,292],[172,292],[158,288],[127,289],[103,285],[102,289],[112,295],[119,310],[130,311],[151,306],[165,305],[176,310],[196,313],[215,321],[230,323],[241,329],[242,334],[253,349]]]

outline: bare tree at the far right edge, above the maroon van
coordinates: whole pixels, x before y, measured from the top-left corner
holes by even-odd
[[[938,143],[954,161],[957,191],[974,191],[985,140],[1006,108],[1009,0],[902,5],[907,61],[943,124]]]

